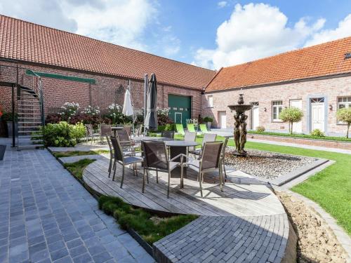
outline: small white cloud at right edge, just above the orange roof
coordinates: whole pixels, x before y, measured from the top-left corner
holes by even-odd
[[[341,20],[336,29],[325,29],[314,34],[312,38],[305,43],[305,46],[341,39],[345,36],[351,36],[351,14],[347,15],[344,20]]]

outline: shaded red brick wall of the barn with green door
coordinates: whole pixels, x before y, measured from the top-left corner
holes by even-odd
[[[4,64],[4,63],[2,63]],[[103,76],[99,74],[86,74],[84,72],[73,72],[65,69],[51,67],[40,67],[33,65],[22,65],[34,71],[61,74],[65,76],[77,76],[81,78],[95,79],[96,84],[69,81],[63,79],[42,78],[44,90],[44,103],[46,114],[57,112],[65,102],[78,102],[81,107],[87,105],[98,106],[106,109],[112,103],[123,104],[124,92],[128,86],[128,79],[119,77]],[[0,80],[15,81],[15,72],[0,74]],[[20,75],[25,76],[24,72]],[[27,77],[27,76],[26,76]],[[201,112],[201,91],[190,88],[179,88],[176,86],[158,85],[158,107],[168,107],[168,93],[192,96],[192,117],[197,118]],[[7,110],[11,108],[11,88],[0,86],[0,101],[3,101]],[[144,104],[144,82],[131,80],[131,95],[135,110],[143,108]]]

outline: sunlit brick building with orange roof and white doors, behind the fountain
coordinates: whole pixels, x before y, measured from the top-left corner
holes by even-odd
[[[341,107],[351,107],[351,37],[301,48],[253,62],[220,69],[206,86],[203,116],[213,116],[214,126],[233,127],[230,104],[239,93],[249,112],[249,128],[286,132],[279,120],[284,107],[299,107],[304,116],[296,133],[319,128],[329,135],[345,135],[345,124],[336,119]]]

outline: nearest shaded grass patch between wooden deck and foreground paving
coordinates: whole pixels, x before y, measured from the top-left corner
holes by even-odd
[[[112,196],[101,196],[99,208],[107,215],[112,215],[122,229],[134,229],[150,245],[197,219],[197,215],[157,217]]]

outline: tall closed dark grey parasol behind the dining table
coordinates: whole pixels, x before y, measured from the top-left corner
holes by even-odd
[[[147,87],[145,128],[147,130],[157,130],[157,81],[156,75],[151,74],[149,86]]]

